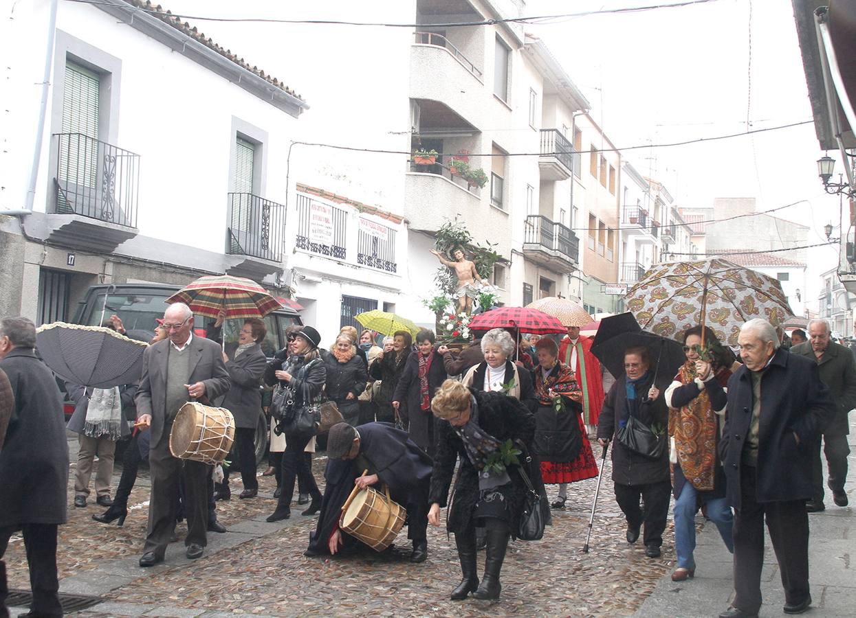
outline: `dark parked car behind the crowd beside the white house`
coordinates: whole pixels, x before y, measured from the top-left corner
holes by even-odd
[[[163,317],[167,308],[166,299],[181,290],[179,285],[128,283],[115,285],[92,285],[86,296],[78,303],[74,314],[74,324],[98,326],[102,319],[116,314],[122,318],[122,325],[129,336],[149,340],[154,337],[155,318]],[[197,317],[194,320],[193,334],[205,337],[205,325],[211,318]],[[227,320],[223,328],[226,343],[236,342],[243,320]],[[285,329],[302,325],[300,314],[294,309],[283,307],[265,316],[267,335],[262,341],[262,350],[269,358],[276,350],[285,347]],[[261,388],[261,386],[259,386]],[[74,412],[74,403],[68,400],[62,404],[66,420]],[[268,439],[268,422],[265,413],[259,409],[259,422],[256,425],[256,458],[260,462],[265,456]]]

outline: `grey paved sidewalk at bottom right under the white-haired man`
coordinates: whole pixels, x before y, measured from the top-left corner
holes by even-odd
[[[856,514],[853,509],[856,505],[856,415],[853,414],[849,438],[847,491],[850,505],[843,509],[835,506],[832,492],[827,491],[826,510],[809,514],[812,609],[805,615],[818,618],[852,618],[856,615],[856,564],[851,566],[851,562],[856,562]],[[764,605],[759,615],[785,615],[782,612],[785,595],[776,555],[770,536],[765,533],[764,537],[764,572],[761,576]],[[711,522],[705,522],[704,529],[698,534],[695,558],[698,566],[693,580],[675,583],[671,580],[671,573],[663,576],[635,616],[693,618],[716,616],[728,609],[734,596],[731,555]]]

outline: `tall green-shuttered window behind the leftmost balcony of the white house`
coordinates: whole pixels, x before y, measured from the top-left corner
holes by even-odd
[[[65,64],[65,88],[62,91],[62,132],[59,178],[65,186],[76,185],[75,192],[91,195],[98,182],[98,74],[74,62]],[[90,191],[87,191],[90,190]],[[74,210],[60,195],[57,212]]]

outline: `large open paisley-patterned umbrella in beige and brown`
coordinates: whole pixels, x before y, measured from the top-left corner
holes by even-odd
[[[646,331],[677,339],[701,324],[729,345],[752,318],[775,327],[794,313],[777,280],[719,257],[655,264],[624,298]]]

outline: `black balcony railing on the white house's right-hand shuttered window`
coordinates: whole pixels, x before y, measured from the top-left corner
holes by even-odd
[[[284,229],[282,204],[252,193],[229,193],[229,254],[282,262]]]

